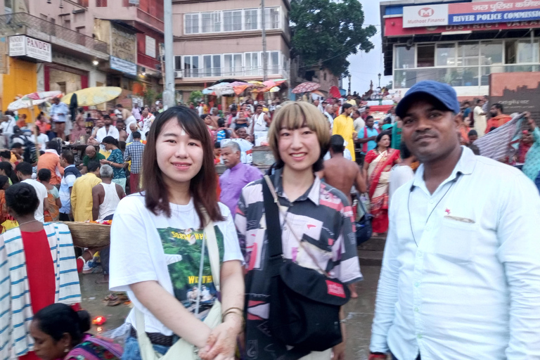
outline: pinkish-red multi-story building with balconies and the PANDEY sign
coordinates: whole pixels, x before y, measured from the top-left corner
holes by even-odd
[[[131,2],[1,1],[1,109],[18,94],[91,86],[121,86],[118,101],[131,107],[134,89],[157,88],[162,2]]]

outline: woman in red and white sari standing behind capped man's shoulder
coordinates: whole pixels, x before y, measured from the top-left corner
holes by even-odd
[[[364,176],[368,179],[368,194],[373,214],[373,235],[388,230],[388,184],[390,170],[399,162],[399,150],[390,146],[390,135],[382,132],[377,136],[377,147],[366,154]]]

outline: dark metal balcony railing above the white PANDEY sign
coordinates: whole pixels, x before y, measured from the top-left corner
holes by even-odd
[[[36,18],[27,13],[0,15],[0,32],[4,36],[25,34],[48,42],[51,42],[51,37],[56,37],[70,44],[84,46],[86,49],[105,54],[109,53],[106,42],[96,40],[67,27],[49,23],[49,21]]]

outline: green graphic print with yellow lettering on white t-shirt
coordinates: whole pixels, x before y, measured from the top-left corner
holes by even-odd
[[[219,249],[219,259],[223,258],[223,233],[218,226],[214,226]],[[203,277],[201,279],[200,295],[198,294],[200,253],[203,245],[204,229],[175,229],[168,227],[158,229],[165,259],[171,277],[174,297],[186,309],[195,312],[197,297],[199,296],[199,319],[204,319],[217,297],[216,288],[210,269],[208,247],[205,245],[205,261]]]

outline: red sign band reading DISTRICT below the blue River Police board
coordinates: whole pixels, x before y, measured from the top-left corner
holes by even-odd
[[[385,18],[385,37],[401,37],[420,34],[441,34],[443,32],[458,31],[493,31],[511,29],[539,28],[540,20],[516,21],[509,23],[494,24],[470,24],[470,25],[441,25],[424,27],[404,27],[404,18]]]

